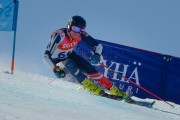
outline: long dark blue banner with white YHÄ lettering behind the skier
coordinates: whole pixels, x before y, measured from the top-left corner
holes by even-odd
[[[140,98],[155,99],[125,80],[122,77],[124,76],[164,100],[180,104],[180,58],[100,40],[99,42],[104,47],[101,62],[107,68],[101,65],[95,67],[121,91],[129,91]],[[85,59],[92,54],[89,52],[92,48],[83,42],[76,51]]]

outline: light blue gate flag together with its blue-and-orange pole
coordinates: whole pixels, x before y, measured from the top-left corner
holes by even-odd
[[[0,31],[14,31],[11,73],[14,70],[18,0],[0,0]]]

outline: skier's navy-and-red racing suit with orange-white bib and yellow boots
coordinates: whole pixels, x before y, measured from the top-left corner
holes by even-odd
[[[118,88],[113,85],[111,81],[100,74],[88,61],[73,51],[81,40],[91,46],[94,49],[94,53],[101,55],[103,46],[88,35],[87,32],[84,31],[79,37],[72,39],[68,36],[68,29],[62,28],[52,33],[51,41],[44,53],[44,61],[52,69],[58,63],[62,63],[65,69],[89,90],[91,90],[91,88],[88,88],[89,86],[94,86],[88,79],[91,78],[99,82],[105,89],[110,90],[110,93],[122,96],[123,93],[118,93]],[[99,92],[100,90],[94,92],[94,94],[99,94]]]

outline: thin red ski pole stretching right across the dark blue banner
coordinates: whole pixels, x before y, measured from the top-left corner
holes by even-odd
[[[134,84],[135,86],[137,86],[137,87],[141,88],[142,90],[144,90],[145,92],[149,93],[150,95],[152,95],[152,96],[156,97],[157,99],[159,99],[159,100],[161,100],[161,101],[165,102],[166,104],[170,105],[171,107],[175,108],[172,104],[168,103],[167,101],[163,100],[161,97],[159,97],[159,96],[155,95],[154,93],[152,93],[152,92],[150,92],[149,90],[147,90],[147,89],[143,88],[142,86],[140,86],[140,85],[136,84],[135,82],[133,82],[132,80],[128,79],[127,77],[125,77],[125,76],[123,76],[123,75],[119,74],[119,72],[116,72],[116,71],[114,71],[114,70],[113,70],[113,69],[111,69],[111,68],[108,68],[108,67],[107,67],[106,65],[104,65],[103,63],[100,63],[100,62],[99,62],[99,64],[100,64],[101,66],[103,66],[103,67],[107,68],[108,70],[110,70],[110,71],[112,71],[112,72],[116,73],[117,75],[119,75],[119,76],[123,77],[125,80],[127,80],[128,82],[130,82],[130,83]]]

